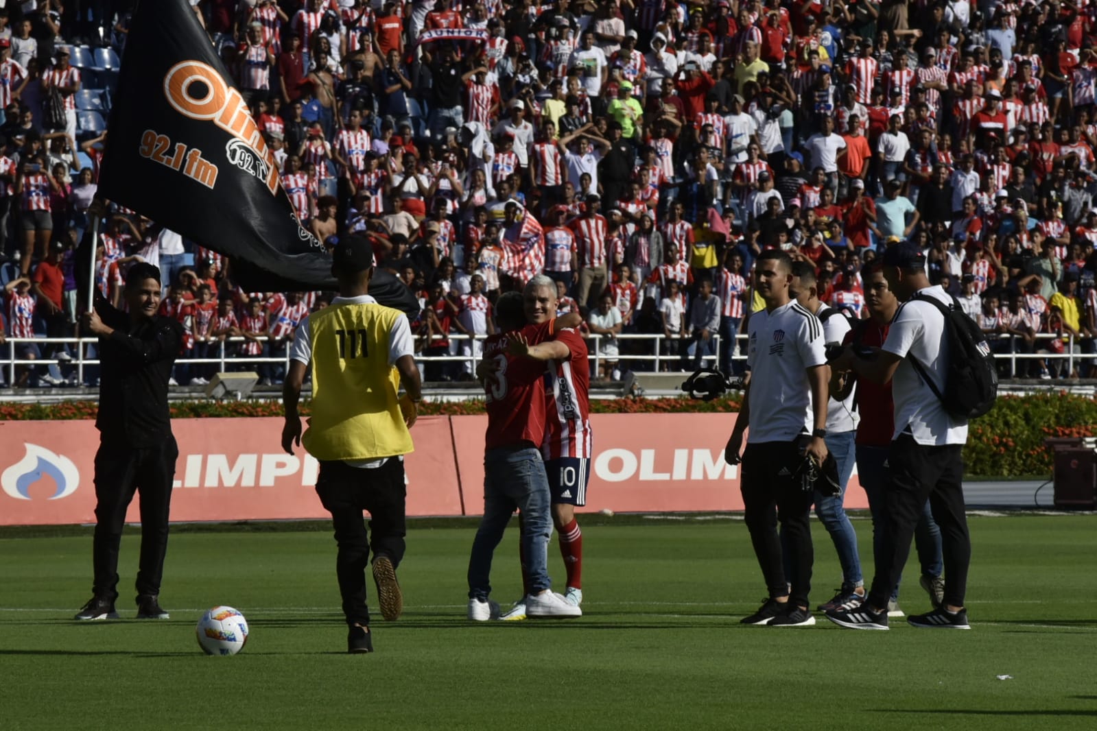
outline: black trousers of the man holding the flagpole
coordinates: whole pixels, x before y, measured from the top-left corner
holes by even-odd
[[[163,576],[168,552],[168,511],[171,483],[176,477],[179,447],[169,436],[154,447],[100,444],[95,453],[95,537],[92,592],[116,599],[118,596],[118,545],[126,509],[134,492],[140,493],[140,562],[137,595],[156,596]]]

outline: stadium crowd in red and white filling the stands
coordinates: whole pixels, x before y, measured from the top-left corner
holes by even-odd
[[[73,331],[72,251],[106,134],[77,115],[81,75],[94,73],[105,105],[112,77],[70,60],[88,44],[122,55],[128,4],[0,9],[9,338]],[[423,304],[426,355],[475,354],[450,338],[493,332],[497,296],[544,273],[562,310],[604,336],[600,375],[619,376],[619,354],[654,351],[615,343],[621,333],[661,335],[683,365],[715,355],[730,368],[732,335],[758,307],[749,277],[762,250],[811,261],[821,298],[860,318],[862,267],[902,240],[1002,352],[1095,350],[1090,0],[191,4],[298,218],[332,245],[371,237]],[[328,298],[242,292],[216,253],[112,206],[97,253],[104,296],[118,300],[135,261],[172,283],[181,384],[208,378],[213,365],[185,359],[227,336],[245,339],[230,346],[240,356],[280,357]],[[16,357],[72,354],[31,343]],[[1094,375],[1090,358],[1074,373],[1062,363],[1025,359],[1017,375]],[[61,366],[21,368],[19,384],[66,382]]]

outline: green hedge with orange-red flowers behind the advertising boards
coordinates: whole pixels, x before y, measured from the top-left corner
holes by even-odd
[[[685,398],[610,399],[590,402],[595,413],[732,413],[738,399],[711,402]],[[63,403],[0,403],[0,421],[94,419],[93,401]],[[302,412],[308,413],[307,401]],[[479,400],[425,401],[420,414],[459,416],[484,413]],[[176,419],[211,416],[281,416],[278,401],[176,401]],[[1030,477],[1051,475],[1051,452],[1043,441],[1052,436],[1097,435],[1097,399],[1065,392],[1003,396],[994,409],[974,422],[964,460],[969,477]]]

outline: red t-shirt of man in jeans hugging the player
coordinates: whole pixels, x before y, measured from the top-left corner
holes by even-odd
[[[531,345],[535,345],[552,338],[553,322],[525,325],[519,332]],[[487,402],[484,448],[494,449],[520,442],[540,447],[545,438],[545,364],[511,355],[507,344],[506,333],[489,335],[484,341],[484,359],[499,365],[495,376],[484,381]]]

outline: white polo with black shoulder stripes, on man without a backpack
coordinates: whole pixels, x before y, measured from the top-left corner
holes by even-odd
[[[747,444],[791,442],[815,426],[807,368],[826,363],[823,324],[796,300],[750,316]]]

